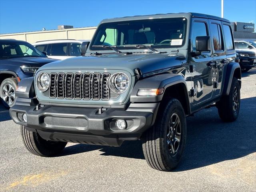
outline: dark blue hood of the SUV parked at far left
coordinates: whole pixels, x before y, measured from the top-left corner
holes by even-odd
[[[41,67],[44,64],[58,61],[56,59],[50,59],[47,57],[18,57],[18,58],[8,58],[1,59],[0,64],[8,64],[14,66],[30,66],[30,67]]]

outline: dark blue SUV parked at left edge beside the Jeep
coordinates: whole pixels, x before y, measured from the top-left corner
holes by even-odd
[[[34,71],[55,59],[25,41],[0,40],[0,98],[6,107],[12,107],[21,79],[31,77]]]

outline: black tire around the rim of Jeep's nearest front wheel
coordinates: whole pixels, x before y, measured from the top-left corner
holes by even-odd
[[[181,103],[175,98],[170,98],[170,100],[162,104],[159,111],[154,126],[142,135],[142,149],[146,162],[150,167],[160,171],[170,171],[178,165],[184,151],[186,144],[186,116]],[[180,148],[178,148],[175,156],[172,156],[168,149],[166,135],[172,114],[178,114],[181,126]]]

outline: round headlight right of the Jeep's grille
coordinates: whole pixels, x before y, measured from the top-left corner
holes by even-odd
[[[129,77],[125,73],[116,73],[110,78],[110,89],[114,93],[123,93],[129,87]]]

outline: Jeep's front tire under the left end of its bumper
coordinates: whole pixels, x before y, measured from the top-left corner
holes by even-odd
[[[23,143],[27,150],[34,155],[42,157],[56,156],[66,146],[67,142],[44,140],[37,132],[26,130],[20,127]]]

